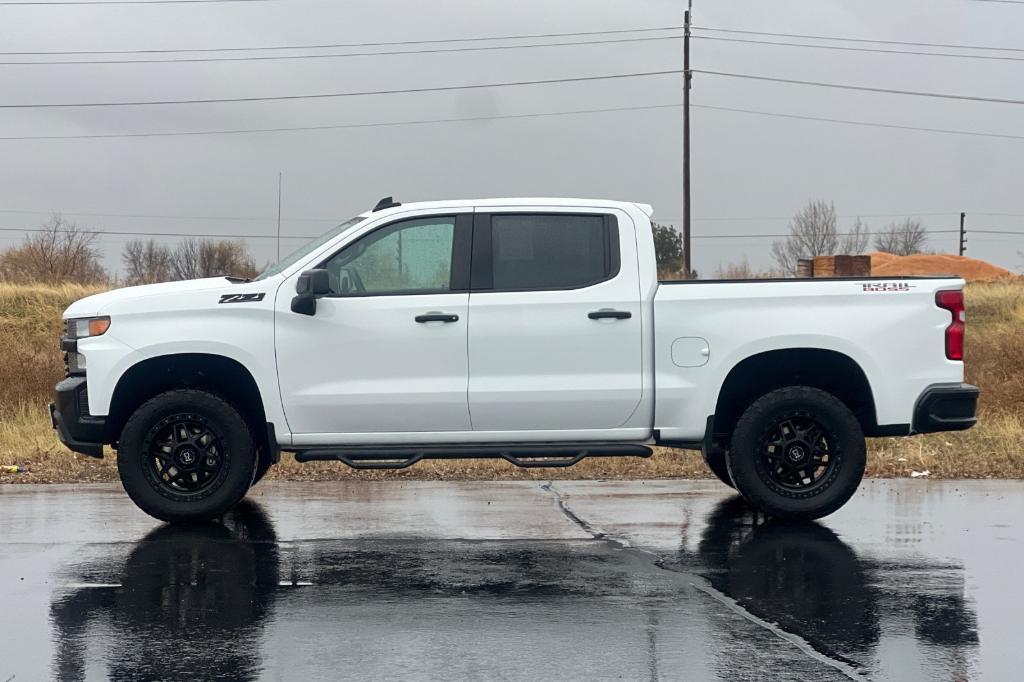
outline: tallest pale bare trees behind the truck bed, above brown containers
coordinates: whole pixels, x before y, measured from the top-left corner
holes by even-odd
[[[846,235],[841,235],[831,202],[812,201],[790,221],[790,235],[771,245],[772,257],[779,269],[792,274],[797,261],[814,256],[863,253],[870,230],[860,218]]]

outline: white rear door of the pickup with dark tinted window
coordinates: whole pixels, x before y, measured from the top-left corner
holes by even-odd
[[[635,228],[628,215],[557,209],[475,215],[469,297],[474,431],[624,426],[641,398],[641,344]]]

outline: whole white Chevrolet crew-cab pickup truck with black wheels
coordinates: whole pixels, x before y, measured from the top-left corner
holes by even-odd
[[[839,509],[865,436],[965,429],[964,282],[658,282],[649,206],[390,198],[255,281],[65,312],[50,406],[131,499],[216,517],[278,461],[568,466],[701,450],[786,518]]]

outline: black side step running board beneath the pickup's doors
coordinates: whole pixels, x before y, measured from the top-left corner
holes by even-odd
[[[353,469],[404,469],[420,460],[505,460],[517,467],[570,467],[588,457],[650,457],[647,445],[630,443],[543,443],[508,445],[367,446],[303,450],[298,462],[338,461]]]

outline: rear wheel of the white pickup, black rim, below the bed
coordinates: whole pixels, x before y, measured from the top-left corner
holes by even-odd
[[[778,518],[820,518],[846,504],[860,484],[864,433],[836,396],[788,386],[746,409],[727,461],[736,489],[757,509]]]

